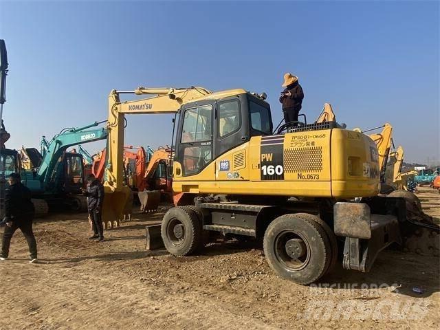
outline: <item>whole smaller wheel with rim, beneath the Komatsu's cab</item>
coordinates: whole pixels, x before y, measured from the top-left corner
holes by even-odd
[[[201,243],[201,223],[194,211],[177,206],[164,215],[161,234],[170,254],[188,256]]]

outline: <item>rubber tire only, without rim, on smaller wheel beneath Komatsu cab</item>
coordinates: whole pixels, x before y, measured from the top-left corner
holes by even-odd
[[[201,225],[197,214],[183,206],[175,206],[170,208],[164,215],[161,226],[161,236],[164,241],[165,248],[170,254],[175,256],[188,256],[192,254],[201,243]],[[185,228],[185,238],[181,245],[173,245],[168,239],[167,226],[170,220],[178,219]]]

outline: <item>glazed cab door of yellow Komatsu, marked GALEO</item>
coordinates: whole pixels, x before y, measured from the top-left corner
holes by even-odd
[[[181,109],[177,159],[182,159],[183,177],[200,173],[212,162],[215,105],[209,100],[186,104]]]

